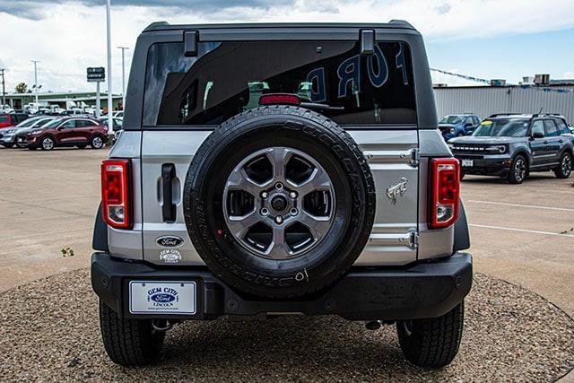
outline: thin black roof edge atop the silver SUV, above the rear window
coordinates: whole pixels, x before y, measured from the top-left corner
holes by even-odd
[[[361,22],[274,22],[274,23],[224,23],[224,24],[170,24],[169,22],[152,22],[143,31],[149,32],[154,30],[207,30],[207,29],[243,29],[243,28],[314,28],[314,29],[333,29],[333,28],[355,28],[357,30],[365,29],[407,29],[415,30],[413,25],[404,20],[391,20],[390,22],[380,23],[361,23]]]

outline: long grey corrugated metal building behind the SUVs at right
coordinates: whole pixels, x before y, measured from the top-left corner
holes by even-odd
[[[474,113],[487,118],[494,113],[560,113],[574,124],[574,84],[537,86],[435,87],[439,118]]]

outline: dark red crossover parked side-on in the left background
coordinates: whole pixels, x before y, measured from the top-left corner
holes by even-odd
[[[101,149],[108,141],[108,128],[91,118],[58,118],[47,125],[30,131],[26,143],[30,150],[41,148],[49,151],[56,146],[77,146],[88,144]]]

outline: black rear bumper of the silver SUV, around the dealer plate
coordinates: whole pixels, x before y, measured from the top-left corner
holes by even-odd
[[[131,314],[130,281],[195,281],[195,315]],[[299,300],[265,300],[248,296],[217,279],[204,267],[160,267],[127,262],[107,253],[91,256],[91,285],[124,318],[213,319],[223,315],[262,313],[336,314],[356,320],[439,317],[470,291],[472,257],[455,253],[432,263],[380,270],[352,268],[338,283]]]

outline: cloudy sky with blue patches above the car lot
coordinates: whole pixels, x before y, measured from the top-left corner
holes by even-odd
[[[121,91],[121,55],[150,22],[387,22],[421,30],[431,66],[517,83],[523,75],[574,78],[572,0],[112,0],[112,79]],[[87,66],[105,66],[104,0],[0,0],[0,67],[6,88],[91,91]],[[127,68],[132,50],[127,51]],[[470,84],[444,74],[435,83]]]

